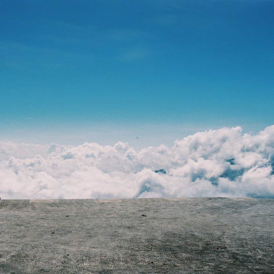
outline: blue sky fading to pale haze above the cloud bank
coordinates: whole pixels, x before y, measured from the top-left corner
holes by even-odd
[[[274,124],[274,1],[2,0],[0,23],[0,140]]]

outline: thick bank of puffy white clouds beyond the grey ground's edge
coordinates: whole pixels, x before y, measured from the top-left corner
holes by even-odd
[[[79,146],[0,142],[0,197],[274,198],[274,125],[198,132],[136,152],[128,143]]]

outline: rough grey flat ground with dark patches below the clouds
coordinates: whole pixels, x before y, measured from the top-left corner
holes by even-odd
[[[274,273],[273,211],[274,199],[2,199],[0,273]]]

